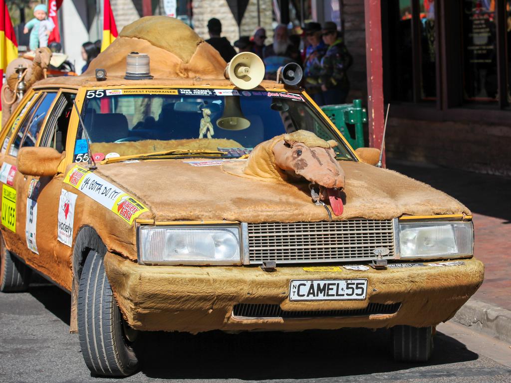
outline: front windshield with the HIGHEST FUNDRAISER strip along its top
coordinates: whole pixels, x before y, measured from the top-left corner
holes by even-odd
[[[95,160],[174,150],[221,151],[227,154],[211,155],[235,158],[262,141],[300,129],[340,141],[302,95],[285,92],[89,90],[82,119]],[[84,148],[87,141],[80,128],[75,155],[86,153]],[[341,142],[334,150],[338,159],[353,159]]]

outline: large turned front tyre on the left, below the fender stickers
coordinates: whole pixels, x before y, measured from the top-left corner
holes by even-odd
[[[92,373],[128,376],[138,369],[138,359],[125,336],[126,326],[106,277],[103,257],[91,250],[80,276],[78,335],[85,364]]]

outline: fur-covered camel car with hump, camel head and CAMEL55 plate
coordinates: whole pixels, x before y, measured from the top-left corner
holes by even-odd
[[[32,271],[67,291],[93,374],[134,373],[153,330],[389,328],[425,362],[482,283],[467,207],[374,166],[298,67],[261,81],[258,60],[144,17],[3,127],[0,291]]]

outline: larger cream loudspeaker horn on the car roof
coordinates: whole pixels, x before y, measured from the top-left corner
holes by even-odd
[[[233,57],[224,70],[224,76],[240,89],[252,89],[264,79],[264,63],[255,53],[242,52]]]

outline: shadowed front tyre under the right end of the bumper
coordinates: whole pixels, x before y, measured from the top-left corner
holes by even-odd
[[[392,346],[397,362],[427,362],[433,352],[433,328],[392,327]]]

